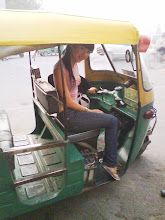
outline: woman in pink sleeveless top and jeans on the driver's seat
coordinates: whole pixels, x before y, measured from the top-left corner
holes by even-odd
[[[78,133],[92,129],[105,128],[105,156],[103,167],[115,179],[120,180],[117,174],[117,137],[119,121],[110,114],[99,109],[88,109],[78,104],[78,85],[81,82],[77,63],[88,58],[94,50],[93,44],[68,45],[62,58],[64,72],[64,86],[66,94],[66,118],[70,132]],[[54,84],[63,99],[62,77],[60,61],[54,66]],[[64,123],[63,106],[60,106],[59,120]]]

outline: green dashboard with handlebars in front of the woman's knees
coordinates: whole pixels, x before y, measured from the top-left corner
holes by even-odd
[[[91,108],[100,108],[106,113],[118,112],[132,120],[137,118],[138,92],[133,88],[116,87],[113,91],[101,89],[89,95]]]

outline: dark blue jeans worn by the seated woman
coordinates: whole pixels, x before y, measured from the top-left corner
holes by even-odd
[[[67,109],[66,116],[68,131],[73,133],[105,128],[104,163],[108,167],[116,167],[119,120],[110,114],[81,112],[72,109]],[[58,114],[58,118],[64,123],[63,112]]]

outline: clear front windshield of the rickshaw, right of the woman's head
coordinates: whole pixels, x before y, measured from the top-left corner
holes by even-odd
[[[96,44],[94,52],[90,56],[91,68],[93,70],[115,70],[117,73],[136,77],[135,55],[131,45],[105,44],[104,46],[114,68],[109,62],[102,46],[100,44]],[[131,58],[130,62],[126,61],[126,53],[128,51]]]

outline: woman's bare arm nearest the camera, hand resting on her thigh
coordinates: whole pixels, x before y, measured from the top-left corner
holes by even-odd
[[[63,87],[62,87],[61,70],[55,69],[53,75],[54,75],[54,79],[55,79],[54,84],[56,85],[59,96],[62,99],[63,98]],[[68,108],[71,108],[71,109],[77,110],[77,111],[88,111],[88,112],[102,113],[102,111],[100,111],[99,109],[93,109],[93,110],[86,109],[71,99],[69,89],[68,89],[68,86],[66,83],[65,75],[64,75],[64,86],[65,86],[66,106]]]

